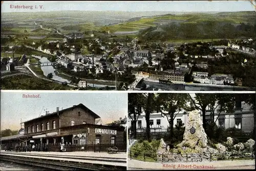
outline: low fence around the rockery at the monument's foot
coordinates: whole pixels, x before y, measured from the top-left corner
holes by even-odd
[[[178,158],[173,158],[174,155],[179,155]],[[153,161],[170,161],[170,162],[203,162],[203,160],[207,161],[216,161],[216,160],[226,160],[226,159],[235,159],[235,158],[248,158],[255,159],[255,152],[225,152],[225,153],[169,153],[169,154],[157,154],[156,153],[148,153],[148,152],[138,152],[134,150],[130,150],[129,152],[130,159],[137,157],[142,157],[144,161],[146,159],[151,159]],[[203,157],[202,157],[203,156]]]

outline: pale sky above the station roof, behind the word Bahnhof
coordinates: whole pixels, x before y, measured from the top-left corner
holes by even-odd
[[[24,98],[23,94],[39,94],[40,98]],[[44,112],[66,109],[82,103],[99,115],[103,124],[127,115],[127,93],[79,92],[1,92],[1,130],[20,129],[20,118],[27,121]]]

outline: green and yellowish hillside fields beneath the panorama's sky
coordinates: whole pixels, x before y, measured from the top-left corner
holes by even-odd
[[[163,15],[164,14],[164,15]],[[141,17],[146,16],[146,17]],[[85,31],[110,31],[122,35],[135,35],[138,31],[149,27],[164,26],[168,23],[201,23],[217,21],[231,23],[236,26],[242,22],[253,23],[255,12],[221,12],[221,13],[174,13],[174,12],[110,12],[110,11],[56,11],[56,12],[21,12],[3,13],[1,29],[2,35],[27,36],[30,41],[46,38],[47,40],[61,40],[63,37],[53,32],[40,29],[58,29],[60,33],[70,35]],[[90,33],[89,33],[90,34]]]

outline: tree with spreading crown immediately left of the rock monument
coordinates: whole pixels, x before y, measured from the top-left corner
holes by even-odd
[[[188,102],[187,94],[178,93],[160,93],[157,95],[158,111],[161,112],[162,117],[166,116],[170,126],[170,141],[172,142],[174,131],[174,119],[182,109],[187,110]],[[178,111],[178,112],[177,112]],[[177,112],[177,113],[176,113]],[[175,114],[176,113],[176,114]]]

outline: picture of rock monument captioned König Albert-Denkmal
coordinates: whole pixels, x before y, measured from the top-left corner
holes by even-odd
[[[255,169],[255,93],[129,93],[127,169]]]

